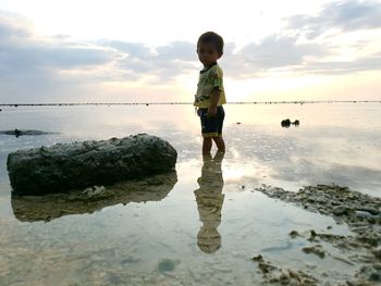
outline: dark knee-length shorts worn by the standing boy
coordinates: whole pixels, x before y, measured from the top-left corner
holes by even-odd
[[[207,108],[198,109],[197,113],[201,120],[202,137],[222,137],[222,126],[225,117],[225,111],[222,105],[217,108],[217,114],[213,117],[208,117]]]

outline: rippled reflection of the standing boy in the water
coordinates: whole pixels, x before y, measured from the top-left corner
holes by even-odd
[[[221,235],[217,227],[221,223],[223,178],[221,161],[223,152],[204,154],[201,177],[197,179],[199,188],[195,190],[199,219],[202,222],[197,235],[198,247],[207,253],[212,253],[221,247]]]

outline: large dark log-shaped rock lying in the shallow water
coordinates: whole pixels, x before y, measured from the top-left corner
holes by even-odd
[[[176,159],[168,141],[138,134],[17,150],[8,156],[7,167],[15,194],[44,195],[168,172]]]

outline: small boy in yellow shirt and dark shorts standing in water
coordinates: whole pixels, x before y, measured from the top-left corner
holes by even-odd
[[[201,121],[202,153],[210,153],[213,141],[217,149],[224,152],[222,126],[225,112],[222,104],[226,103],[226,98],[223,73],[217,63],[223,54],[222,37],[213,32],[202,34],[197,41],[197,54],[204,69],[200,71],[194,105],[198,108]]]

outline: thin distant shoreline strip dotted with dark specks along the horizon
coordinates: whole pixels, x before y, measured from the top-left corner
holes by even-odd
[[[295,100],[295,101],[235,101],[228,104],[315,104],[315,103],[381,103],[381,100]],[[0,107],[71,107],[71,105],[186,105],[193,102],[47,102],[0,103]]]

